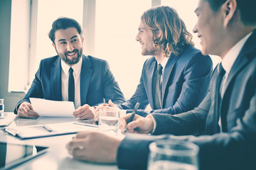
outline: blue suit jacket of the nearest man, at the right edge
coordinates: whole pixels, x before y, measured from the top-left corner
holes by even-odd
[[[157,139],[188,140],[199,146],[201,170],[240,170],[256,167],[256,30],[242,47],[230,70],[223,100],[216,105],[218,72],[198,108],[178,115],[153,114],[153,135],[127,135],[118,149],[121,169],[146,169],[149,143]],[[218,106],[218,107],[216,107]],[[220,111],[220,115],[216,111]],[[218,126],[219,116],[223,132]],[[173,135],[201,135],[172,136]]]

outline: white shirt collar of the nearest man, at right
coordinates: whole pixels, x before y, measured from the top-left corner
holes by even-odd
[[[223,69],[225,70],[225,72],[227,74],[229,74],[230,69],[233,67],[235,60],[238,58],[238,55],[239,55],[240,51],[242,50],[242,46],[245,45],[245,42],[250,37],[250,35],[252,35],[252,32],[245,35],[245,37],[242,38],[238,43],[236,43],[228,51],[228,53],[225,55],[225,57],[223,57],[222,65],[223,65]]]

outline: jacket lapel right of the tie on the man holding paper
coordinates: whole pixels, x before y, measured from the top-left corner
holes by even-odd
[[[82,67],[80,73],[80,98],[81,106],[87,103],[87,93],[90,85],[90,80],[92,78],[92,63],[89,58],[82,55]]]

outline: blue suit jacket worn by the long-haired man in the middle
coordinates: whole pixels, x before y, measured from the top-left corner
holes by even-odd
[[[153,75],[157,61],[154,57],[144,63],[142,76],[137,90],[129,101],[122,103],[120,108],[133,109],[137,102],[140,109],[146,108],[150,103],[154,110]],[[201,103],[208,92],[210,74],[213,63],[210,57],[203,56],[200,50],[188,45],[179,56],[171,53],[164,68],[162,81],[161,101],[164,109],[152,111],[154,113],[177,114],[190,111]],[[127,111],[129,113],[129,111]],[[138,111],[139,115],[146,115]]]

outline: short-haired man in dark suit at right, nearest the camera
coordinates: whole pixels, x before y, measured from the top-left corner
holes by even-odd
[[[130,114],[125,115],[122,129],[152,135],[126,135],[120,140],[83,132],[67,145],[70,154],[92,162],[117,162],[120,169],[146,169],[149,143],[176,139],[198,145],[201,170],[255,169],[255,0],[199,0],[195,13],[193,31],[201,39],[203,54],[222,58],[198,108],[179,115],[136,115],[128,125]]]

